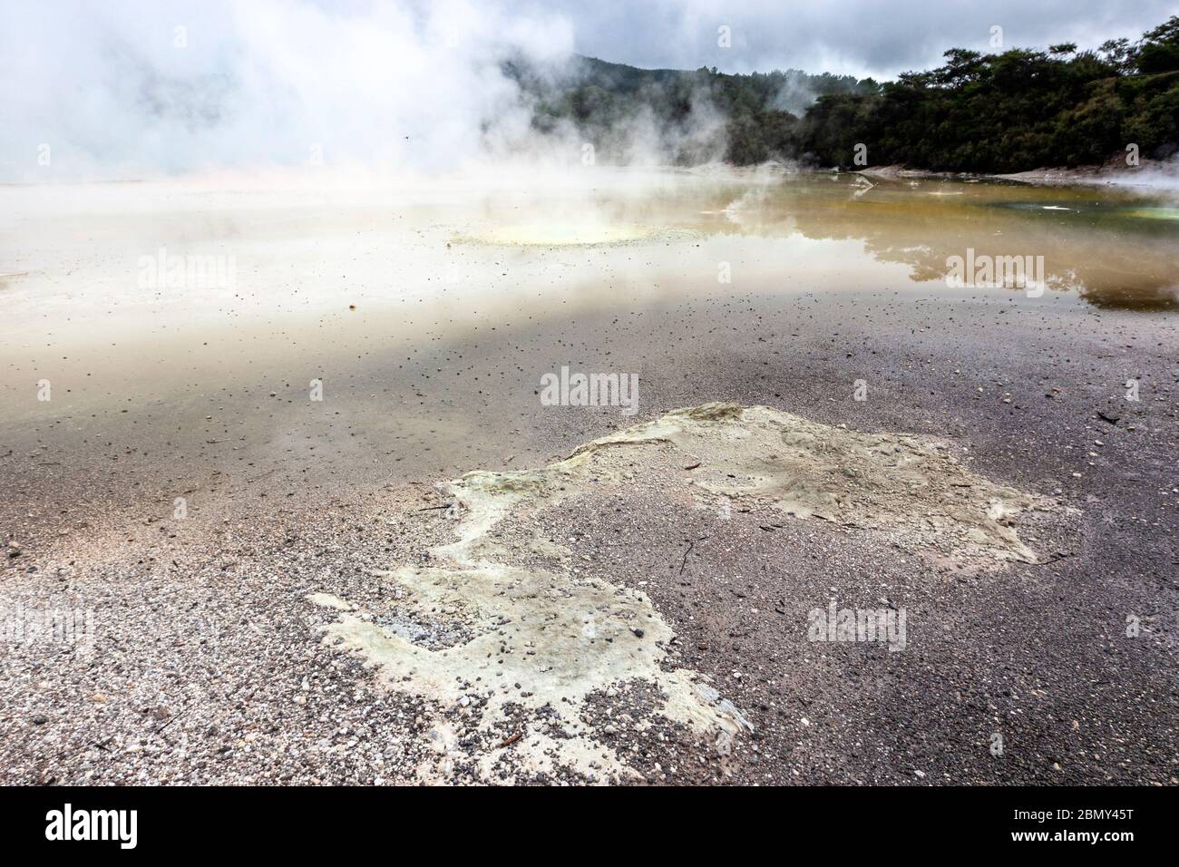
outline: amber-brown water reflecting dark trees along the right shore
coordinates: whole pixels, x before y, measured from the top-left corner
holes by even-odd
[[[1049,290],[1075,290],[1098,307],[1179,307],[1179,209],[1132,193],[921,182],[877,183],[819,212],[791,199],[784,191],[771,202],[804,236],[862,238],[914,281],[944,281],[949,261],[973,249],[975,258],[1042,256]]]

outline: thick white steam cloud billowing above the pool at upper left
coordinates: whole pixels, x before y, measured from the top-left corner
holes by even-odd
[[[567,19],[494,0],[47,0],[2,14],[4,180],[460,165],[527,134],[500,60],[573,50]]]

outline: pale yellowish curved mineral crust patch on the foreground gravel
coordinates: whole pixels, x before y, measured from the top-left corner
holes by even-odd
[[[345,612],[324,628],[327,641],[361,653],[394,689],[460,704],[483,730],[499,730],[508,705],[555,715],[564,736],[526,723],[482,756],[487,777],[506,750],[516,768],[561,766],[600,781],[630,775],[582,710],[591,695],[635,682],[661,696],[652,712],[731,748],[752,727],[700,675],[667,666],[673,631],[646,593],[582,574],[572,552],[544,532],[545,510],[605,485],[632,490],[639,471],[648,488],[689,482],[702,505],[731,500],[821,517],[960,561],[1034,561],[1015,519],[1048,505],[970,473],[926,438],[707,403],[593,440],[545,467],[473,472],[446,484],[460,518],[454,540],[430,550],[430,565],[381,576],[401,589],[402,609],[456,639],[430,644],[381,612],[317,593],[309,598]],[[512,532],[498,537],[509,518]],[[538,557],[559,563],[540,569]],[[432,764],[423,779],[444,779],[448,762]]]

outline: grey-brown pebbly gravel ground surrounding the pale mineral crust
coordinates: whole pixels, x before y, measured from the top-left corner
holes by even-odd
[[[724,400],[947,438],[973,472],[1080,511],[1021,530],[1046,561],[975,571],[758,508],[729,520],[665,500],[635,508],[641,491],[625,508],[608,495],[555,507],[554,532],[577,539],[585,569],[641,586],[677,632],[674,665],[711,677],[753,724],[718,751],[653,716],[643,684],[593,696],[586,722],[637,781],[1179,782],[1179,315],[882,291],[531,324],[527,342],[508,330],[443,349],[494,382],[533,381],[554,360],[637,370],[640,412],[546,408],[526,386],[473,398],[479,436],[452,451],[476,453],[475,466],[535,466]],[[389,367],[376,359],[365,375]],[[456,386],[417,387],[423,412],[432,396],[454,402]],[[321,641],[335,615],[309,593],[380,599],[393,590],[374,572],[426,561],[448,538],[432,487],[444,461],[410,454],[384,478],[337,426],[316,434],[331,461],[279,452],[210,485],[212,465],[141,449],[127,428],[7,433],[0,607],[90,610],[93,641],[4,646],[0,782],[465,782],[493,750],[493,781],[587,781],[513,762],[511,738],[548,724],[542,712],[475,730],[467,709],[384,685]],[[432,445],[444,452],[446,433]],[[192,485],[190,517],[162,512]],[[809,642],[806,612],[832,598],[903,609],[904,651]],[[456,740],[441,764],[440,725]]]

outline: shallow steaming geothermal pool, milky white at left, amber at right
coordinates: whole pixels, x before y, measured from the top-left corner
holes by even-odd
[[[657,307],[913,290],[1174,310],[1177,215],[1113,188],[764,171],[4,186],[2,439],[178,475],[452,473],[527,428],[542,372],[659,363]],[[947,285],[968,255],[1042,257],[1042,297]],[[177,257],[210,268],[173,280]]]

